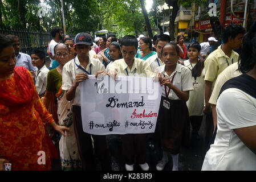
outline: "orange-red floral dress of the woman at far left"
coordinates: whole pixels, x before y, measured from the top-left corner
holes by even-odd
[[[4,89],[22,97],[17,85],[15,77],[0,81],[0,94]],[[9,160],[12,170],[51,169],[53,144],[44,129],[51,122],[54,119],[42,104],[35,85],[29,104],[13,107],[0,104],[0,156]]]

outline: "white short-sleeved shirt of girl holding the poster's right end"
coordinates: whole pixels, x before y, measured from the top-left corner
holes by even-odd
[[[165,72],[165,64],[158,67],[156,69],[155,73],[162,73],[162,74],[164,74],[165,77],[170,78],[170,80],[172,80],[174,73],[176,73],[173,78],[173,83],[172,83],[174,86],[176,86],[181,91],[188,91],[188,90],[194,89],[193,84],[191,82],[191,80],[192,80],[191,71],[189,70],[189,68],[185,67],[184,65],[177,63],[174,72],[172,72],[172,75],[170,75],[170,76],[168,76],[168,74]],[[166,92],[168,92],[168,90],[169,90],[169,87],[166,86]],[[165,86],[162,86],[162,96],[166,97],[165,96]],[[176,93],[173,92],[172,89],[170,89],[168,98],[170,100],[181,100],[176,95]]]

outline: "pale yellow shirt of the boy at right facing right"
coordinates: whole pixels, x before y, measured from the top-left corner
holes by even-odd
[[[238,53],[235,51],[231,52],[230,57],[225,55],[224,51],[222,51],[221,49],[221,46],[219,46],[215,51],[210,53],[210,55],[205,60],[205,80],[212,81],[212,90],[214,88],[218,75],[220,75],[220,73],[224,71],[224,69],[227,68],[229,65],[237,62],[239,58]]]

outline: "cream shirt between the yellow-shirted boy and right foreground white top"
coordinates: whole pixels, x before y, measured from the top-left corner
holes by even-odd
[[[227,67],[217,78],[209,103],[216,105],[217,98],[220,94],[222,86],[227,80],[237,77],[242,73],[238,70],[238,62]]]

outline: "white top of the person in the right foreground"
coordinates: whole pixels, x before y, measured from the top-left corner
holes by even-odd
[[[202,170],[256,170],[256,155],[234,132],[256,125],[256,99],[229,88],[218,98],[216,110],[217,135],[205,155]]]

